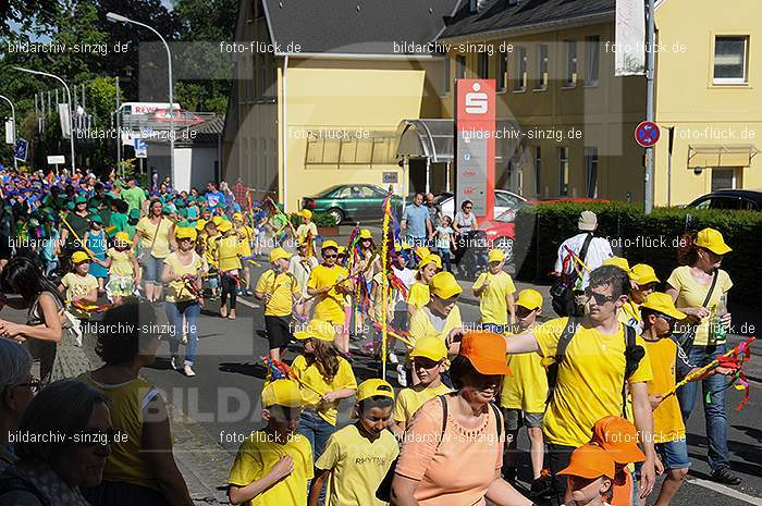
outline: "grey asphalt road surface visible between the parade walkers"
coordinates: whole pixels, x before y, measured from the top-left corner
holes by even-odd
[[[254,277],[257,279],[257,275]],[[164,394],[173,405],[174,411],[182,412],[198,427],[201,445],[219,445],[230,454],[219,467],[224,476],[232,462],[242,439],[251,430],[260,428],[259,394],[261,392],[265,368],[260,365],[267,353],[267,340],[263,336],[261,308],[253,297],[244,297],[238,305],[236,320],[219,318],[218,303],[207,303],[199,322],[198,356],[194,369],[195,378],[186,378],[169,367],[169,346],[160,344],[156,363],[144,369],[144,375]],[[466,322],[477,321],[478,307],[460,305]],[[160,321],[167,322],[163,309],[159,310]],[[24,313],[5,309],[2,318],[24,321]],[[87,340],[91,345],[91,340]],[[298,353],[292,347],[287,359]],[[358,380],[376,377],[376,365],[356,355],[353,360]],[[392,369],[393,372],[393,369]],[[396,384],[392,373],[389,380]],[[688,441],[693,461],[687,484],[678,493],[673,504],[678,506],[762,505],[762,398],[759,383],[752,383],[751,399],[746,408],[735,411],[740,400],[740,393],[728,391],[728,441],[732,467],[743,478],[743,483],[736,488],[716,485],[709,479],[706,465],[706,443],[701,409],[697,409],[688,421]],[[351,403],[342,405],[339,422],[348,421]],[[519,448],[528,448],[526,433],[521,433]],[[224,454],[224,452],[223,452]],[[182,458],[182,457],[179,457]],[[528,456],[524,455],[519,470],[519,480],[528,481]],[[207,462],[208,465],[208,462]],[[223,483],[220,483],[222,485]],[[653,496],[655,498],[655,494]],[[650,504],[650,503],[649,503]]]

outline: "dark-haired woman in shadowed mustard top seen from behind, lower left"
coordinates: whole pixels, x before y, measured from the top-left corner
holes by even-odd
[[[159,336],[147,304],[110,309],[98,328],[96,353],[105,365],[79,380],[108,399],[114,428],[124,433],[106,461],[103,482],[84,491],[93,506],[190,506],[193,501],[172,454],[164,399],[140,377],[153,363]]]

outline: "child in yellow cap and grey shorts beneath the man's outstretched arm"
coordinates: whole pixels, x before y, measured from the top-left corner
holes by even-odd
[[[515,314],[519,333],[537,323],[542,313],[542,295],[534,289],[523,289],[518,294]],[[504,474],[508,481],[516,479],[516,448],[518,430],[527,428],[532,462],[532,497],[550,490],[550,480],[542,477],[544,443],[542,441],[542,417],[548,398],[548,375],[538,354],[509,355],[508,367],[513,375],[503,380],[500,407],[505,420],[506,442]]]

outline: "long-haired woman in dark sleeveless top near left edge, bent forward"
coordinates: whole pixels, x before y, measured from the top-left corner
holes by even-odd
[[[21,295],[21,300],[9,299],[9,306],[28,309],[25,324],[0,320],[0,335],[27,346],[39,360],[38,378],[42,383],[89,370],[90,361],[70,331],[72,324],[59,291],[34,260],[11,259],[0,275],[0,287],[7,294]]]

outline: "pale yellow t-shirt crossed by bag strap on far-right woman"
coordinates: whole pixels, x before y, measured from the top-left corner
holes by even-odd
[[[717,282],[712,291],[712,297],[706,304],[706,309],[709,309],[712,314],[710,314],[709,318],[701,320],[701,323],[699,323],[699,325],[696,328],[696,338],[693,340],[693,344],[696,346],[716,344],[709,342],[710,324],[713,316],[715,314],[716,306],[720,303],[720,297],[722,297],[723,294],[727,293],[727,291],[733,287],[733,282],[730,281],[730,276],[727,274],[727,272],[721,269],[717,271],[716,275],[718,276]],[[678,267],[672,271],[672,274],[669,274],[669,279],[667,280],[667,284],[678,292],[677,300],[675,300],[675,306],[678,308],[695,308],[701,306],[704,304],[704,299],[706,299],[709,287],[712,286],[711,282],[705,285],[699,284],[699,282],[696,281],[696,277],[693,277],[693,275],[690,273],[690,266]],[[680,326],[688,324],[688,320],[680,322]]]

